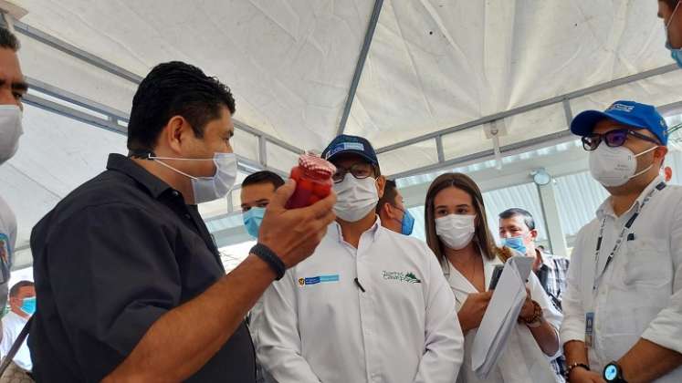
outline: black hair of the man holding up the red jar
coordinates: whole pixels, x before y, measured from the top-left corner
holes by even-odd
[[[206,124],[220,118],[222,108],[234,114],[235,98],[217,78],[180,61],[159,64],[142,79],[132,98],[128,149],[151,151],[173,116],[186,119],[201,138]]]

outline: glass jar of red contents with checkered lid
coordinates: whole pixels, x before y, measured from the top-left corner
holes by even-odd
[[[287,202],[287,209],[298,209],[318,202],[331,193],[331,176],[336,167],[327,160],[301,154],[299,166],[291,169],[289,178],[296,181],[296,191]]]

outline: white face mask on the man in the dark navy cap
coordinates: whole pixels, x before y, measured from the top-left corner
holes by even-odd
[[[334,183],[336,204],[334,212],[341,220],[355,223],[376,208],[379,193],[376,190],[376,180],[367,177],[358,180],[351,173],[347,173],[343,181]]]

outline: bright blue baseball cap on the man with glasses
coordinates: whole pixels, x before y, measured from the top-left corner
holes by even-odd
[[[615,101],[604,111],[585,110],[572,120],[571,131],[578,136],[587,136],[592,133],[594,125],[602,119],[613,119],[635,129],[647,129],[654,133],[663,145],[667,145],[666,120],[653,105],[635,101]]]

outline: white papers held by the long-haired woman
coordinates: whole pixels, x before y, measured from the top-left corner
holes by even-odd
[[[490,299],[488,309],[478,326],[471,354],[471,367],[478,378],[488,378],[488,373],[498,362],[507,346],[509,333],[526,299],[526,281],[533,259],[525,256],[509,258],[498,286]]]

